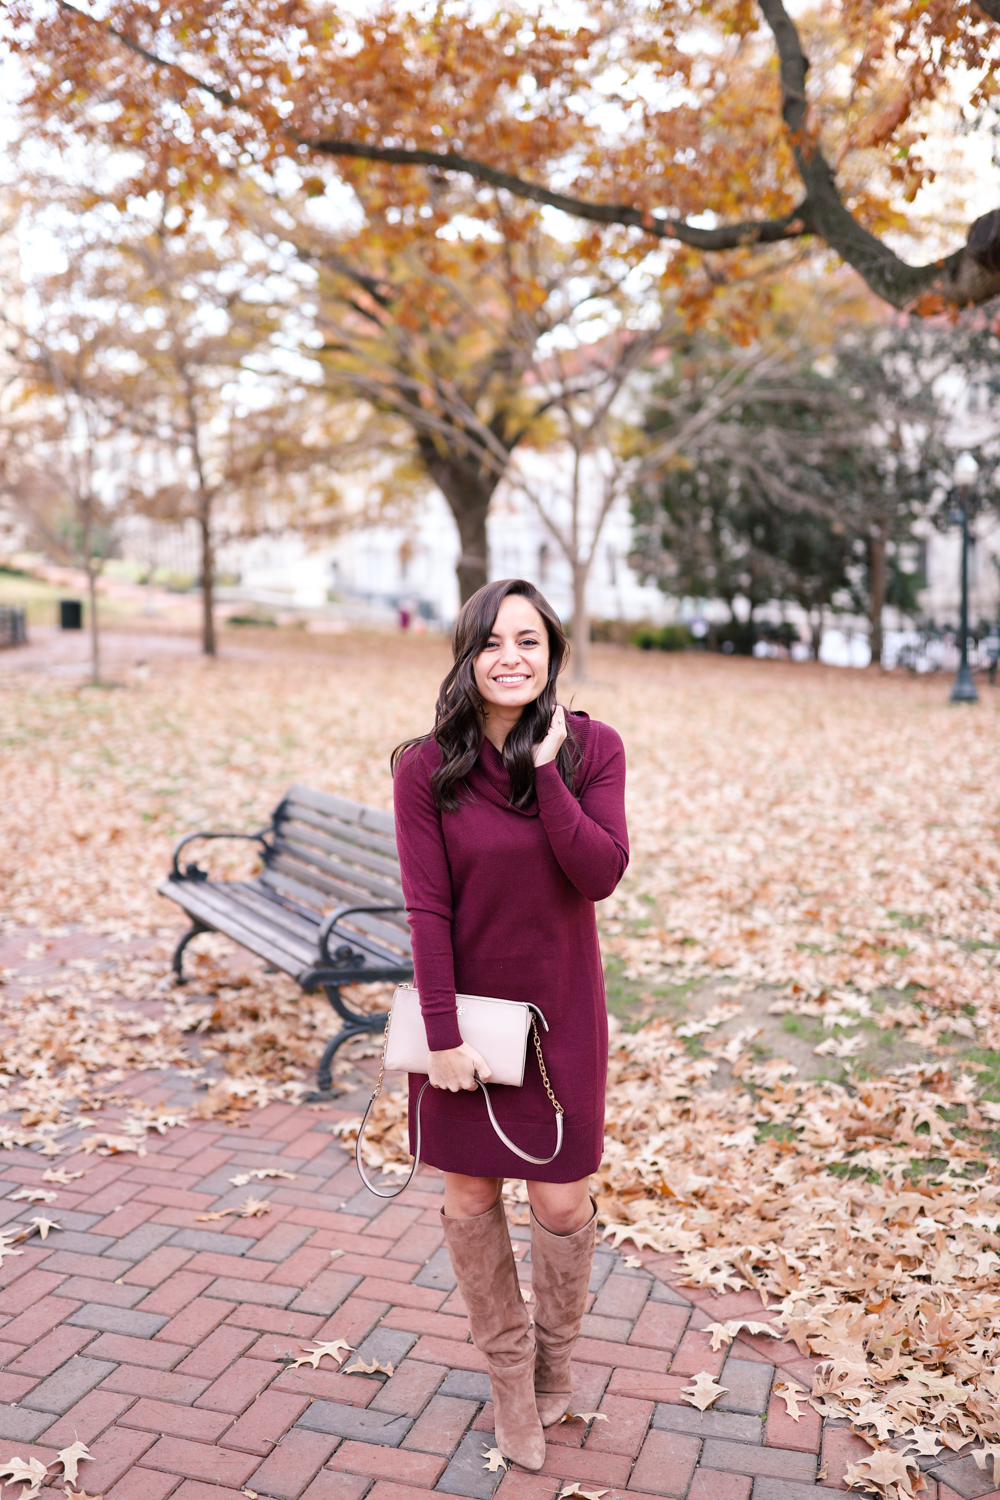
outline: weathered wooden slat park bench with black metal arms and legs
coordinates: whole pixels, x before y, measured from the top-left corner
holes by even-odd
[[[196,838],[244,838],[261,852],[249,880],[213,880],[180,854]],[[340,994],[343,984],[411,980],[409,927],[399,884],[393,814],[363,802],[289,786],[265,828],[252,834],[187,834],[159,894],[190,918],[174,951],[184,984],[184,948],[198,933],[217,932],[289,974],[307,994],[322,988],[343,1022],[327,1042],[316,1088],[330,1092],[339,1047],[385,1028],[385,1012],[361,1016]]]

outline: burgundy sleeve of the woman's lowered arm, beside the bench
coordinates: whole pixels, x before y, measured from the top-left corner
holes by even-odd
[[[423,747],[411,750],[396,772],[396,848],[427,1046],[445,1052],[462,1046],[454,999],[451,867],[424,753]]]

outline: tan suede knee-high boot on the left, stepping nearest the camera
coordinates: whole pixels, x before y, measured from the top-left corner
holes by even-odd
[[[472,1342],[486,1354],[493,1390],[496,1446],[504,1458],[538,1470],[546,1440],[535,1410],[535,1341],[517,1266],[510,1248],[504,1204],[475,1218],[445,1218],[444,1238],[469,1311]]]

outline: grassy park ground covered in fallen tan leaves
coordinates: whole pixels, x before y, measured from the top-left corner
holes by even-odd
[[[207,1108],[307,1077],[330,1023],[283,980],[216,948],[207,999],[175,1000],[178,921],[154,885],[181,832],[262,824],[291,780],[387,807],[388,752],[429,723],[445,662],[430,639],[283,634],[216,663],[157,658],[114,690],[0,672],[4,928],[123,942],[112,972],[0,987],[22,1131],[52,1138],[123,1070],[193,1044],[219,1080]],[[873,1446],[1000,1444],[996,700],[612,648],[594,674],[567,698],[625,740],[633,836],[601,914],[625,1022],[609,1232],[676,1252],[700,1286],[756,1288],[829,1360],[814,1400]],[[816,1065],[796,1072],[783,1036]],[[399,1116],[387,1101],[384,1160],[402,1155]],[[898,1456],[859,1480],[919,1486]]]

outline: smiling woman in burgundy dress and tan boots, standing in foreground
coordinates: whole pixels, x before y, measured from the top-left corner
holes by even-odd
[[[594,903],[628,862],[625,753],[616,732],[556,704],[567,639],[522,579],[487,584],[454,627],[435,728],[393,754],[396,838],[414,968],[432,1053],[423,1156],[444,1172],[442,1226],[472,1340],[486,1354],[496,1444],[526,1468],[570,1407],[597,1215],[589,1174],[604,1150],[607,1008]],[[565,1140],[529,1168],[534,1332],[501,1202],[525,1166],[493,1132],[462,1041],[460,994],[531,1000]],[[531,1041],[529,1041],[531,1048]],[[555,1146],[534,1058],[522,1088],[493,1089],[501,1128],[532,1156]],[[423,1077],[409,1078],[409,1128]]]

